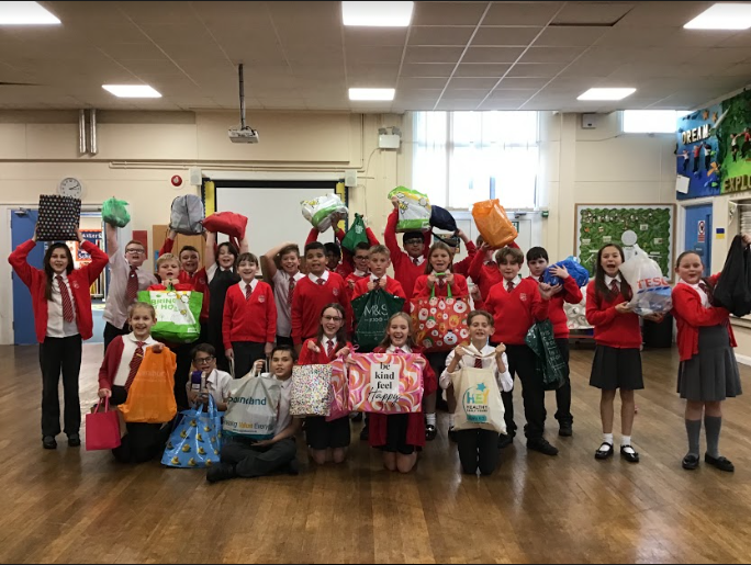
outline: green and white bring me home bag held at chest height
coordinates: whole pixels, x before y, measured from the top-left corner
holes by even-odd
[[[157,323],[152,328],[155,339],[172,343],[192,343],[201,335],[203,294],[195,291],[141,291],[138,301],[154,306]]]

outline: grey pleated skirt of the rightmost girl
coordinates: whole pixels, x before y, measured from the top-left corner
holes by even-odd
[[[699,328],[699,352],[679,368],[677,392],[692,402],[715,403],[741,394],[740,374],[728,328]]]

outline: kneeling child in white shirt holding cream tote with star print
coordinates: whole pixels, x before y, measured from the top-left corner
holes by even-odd
[[[457,346],[446,360],[447,368],[441,373],[439,384],[444,389],[451,387],[451,374],[460,371],[464,366],[475,369],[492,369],[498,383],[498,388],[508,392],[513,388],[511,373],[508,372],[508,360],[506,359],[506,346],[498,343],[492,347],[487,340],[494,332],[493,316],[484,310],[474,310],[467,317],[467,326],[470,330],[470,343]],[[459,398],[455,396],[455,403],[459,404]],[[490,403],[487,403],[490,405]],[[501,396],[497,396],[497,404],[503,406]],[[501,411],[501,410],[498,410]],[[498,432],[481,428],[459,430],[457,434],[457,445],[459,449],[459,461],[461,468],[468,475],[475,475],[478,468],[480,474],[490,475],[498,464]]]

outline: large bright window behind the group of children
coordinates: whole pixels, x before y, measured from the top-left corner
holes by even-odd
[[[537,138],[537,112],[415,112],[412,188],[448,208],[535,207]]]

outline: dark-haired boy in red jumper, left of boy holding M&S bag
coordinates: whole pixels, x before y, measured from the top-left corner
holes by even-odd
[[[292,297],[292,340],[298,352],[303,341],[317,336],[321,312],[327,304],[341,305],[347,330],[352,321],[347,285],[341,276],[326,269],[323,244],[315,241],[305,246],[305,265],[307,276],[296,284]]]

